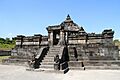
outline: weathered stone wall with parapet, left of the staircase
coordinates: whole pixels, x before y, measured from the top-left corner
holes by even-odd
[[[16,37],[16,46],[12,50],[12,57],[33,59],[43,46],[48,46],[47,36],[40,34],[35,34],[34,36],[18,35]]]

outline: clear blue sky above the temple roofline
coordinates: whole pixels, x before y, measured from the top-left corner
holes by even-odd
[[[0,37],[47,35],[68,14],[86,32],[113,29],[120,39],[120,0],[0,0]]]

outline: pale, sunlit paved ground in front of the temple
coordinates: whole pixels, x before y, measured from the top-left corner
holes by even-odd
[[[0,80],[120,80],[120,70],[70,70],[66,74],[26,71],[26,67],[0,65]]]

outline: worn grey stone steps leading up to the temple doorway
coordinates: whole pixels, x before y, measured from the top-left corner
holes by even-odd
[[[40,69],[44,70],[54,70],[54,57],[58,54],[61,58],[64,50],[64,46],[52,46],[49,48],[47,55],[41,62]]]

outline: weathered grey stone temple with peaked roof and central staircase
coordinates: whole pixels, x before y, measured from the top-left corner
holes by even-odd
[[[48,36],[18,35],[9,62],[24,64],[33,60],[41,69],[105,69],[120,66],[118,47],[113,44],[114,31],[87,33],[68,15],[59,25],[48,26]],[[55,61],[56,55],[59,61]],[[58,65],[57,65],[58,63]],[[81,64],[82,63],[82,64]]]

